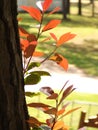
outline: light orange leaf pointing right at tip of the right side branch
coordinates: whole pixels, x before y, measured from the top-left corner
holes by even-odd
[[[71,39],[74,38],[75,36],[76,36],[76,34],[71,34],[70,32],[63,34],[63,35],[59,38],[59,40],[57,41],[57,46],[62,45],[63,43],[65,43],[65,42],[71,40]]]

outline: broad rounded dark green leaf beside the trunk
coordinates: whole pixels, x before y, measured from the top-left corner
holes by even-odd
[[[41,77],[38,74],[30,73],[25,77],[24,82],[26,85],[37,84],[41,80]]]

